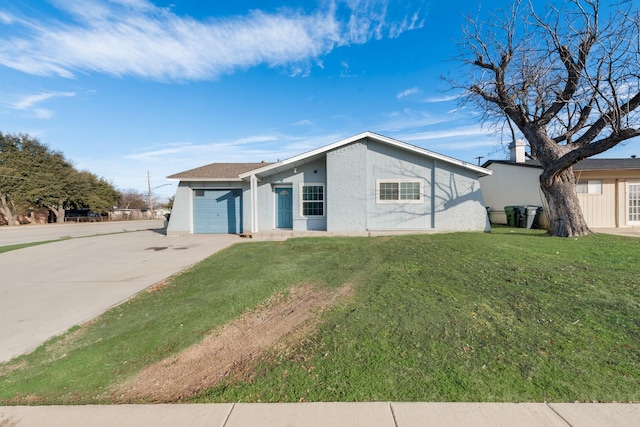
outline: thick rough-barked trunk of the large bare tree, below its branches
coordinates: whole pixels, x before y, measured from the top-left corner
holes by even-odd
[[[575,237],[590,233],[576,193],[573,168],[551,177],[540,175],[540,188],[549,205],[549,227],[553,236]]]

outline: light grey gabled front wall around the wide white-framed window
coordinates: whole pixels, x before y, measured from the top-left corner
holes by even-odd
[[[327,153],[327,172],[328,231],[489,229],[476,174],[461,167],[367,139]],[[382,203],[380,180],[419,181],[421,200]]]

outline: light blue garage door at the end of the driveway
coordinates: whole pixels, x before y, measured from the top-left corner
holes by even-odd
[[[242,190],[194,190],[193,232],[242,233]]]

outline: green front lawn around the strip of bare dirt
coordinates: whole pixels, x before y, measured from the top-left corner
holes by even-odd
[[[640,239],[499,228],[233,246],[0,365],[0,403],[109,388],[299,283],[355,288],[196,402],[640,401]]]

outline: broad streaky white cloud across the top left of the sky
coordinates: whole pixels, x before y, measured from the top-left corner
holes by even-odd
[[[57,0],[70,20],[0,10],[0,64],[35,75],[100,72],[154,80],[208,80],[237,69],[291,66],[337,46],[397,37],[423,25],[391,18],[388,0],[336,0],[313,13],[253,10],[196,20],[148,0]],[[10,34],[10,35],[9,35]],[[294,75],[304,75],[304,68]]]

